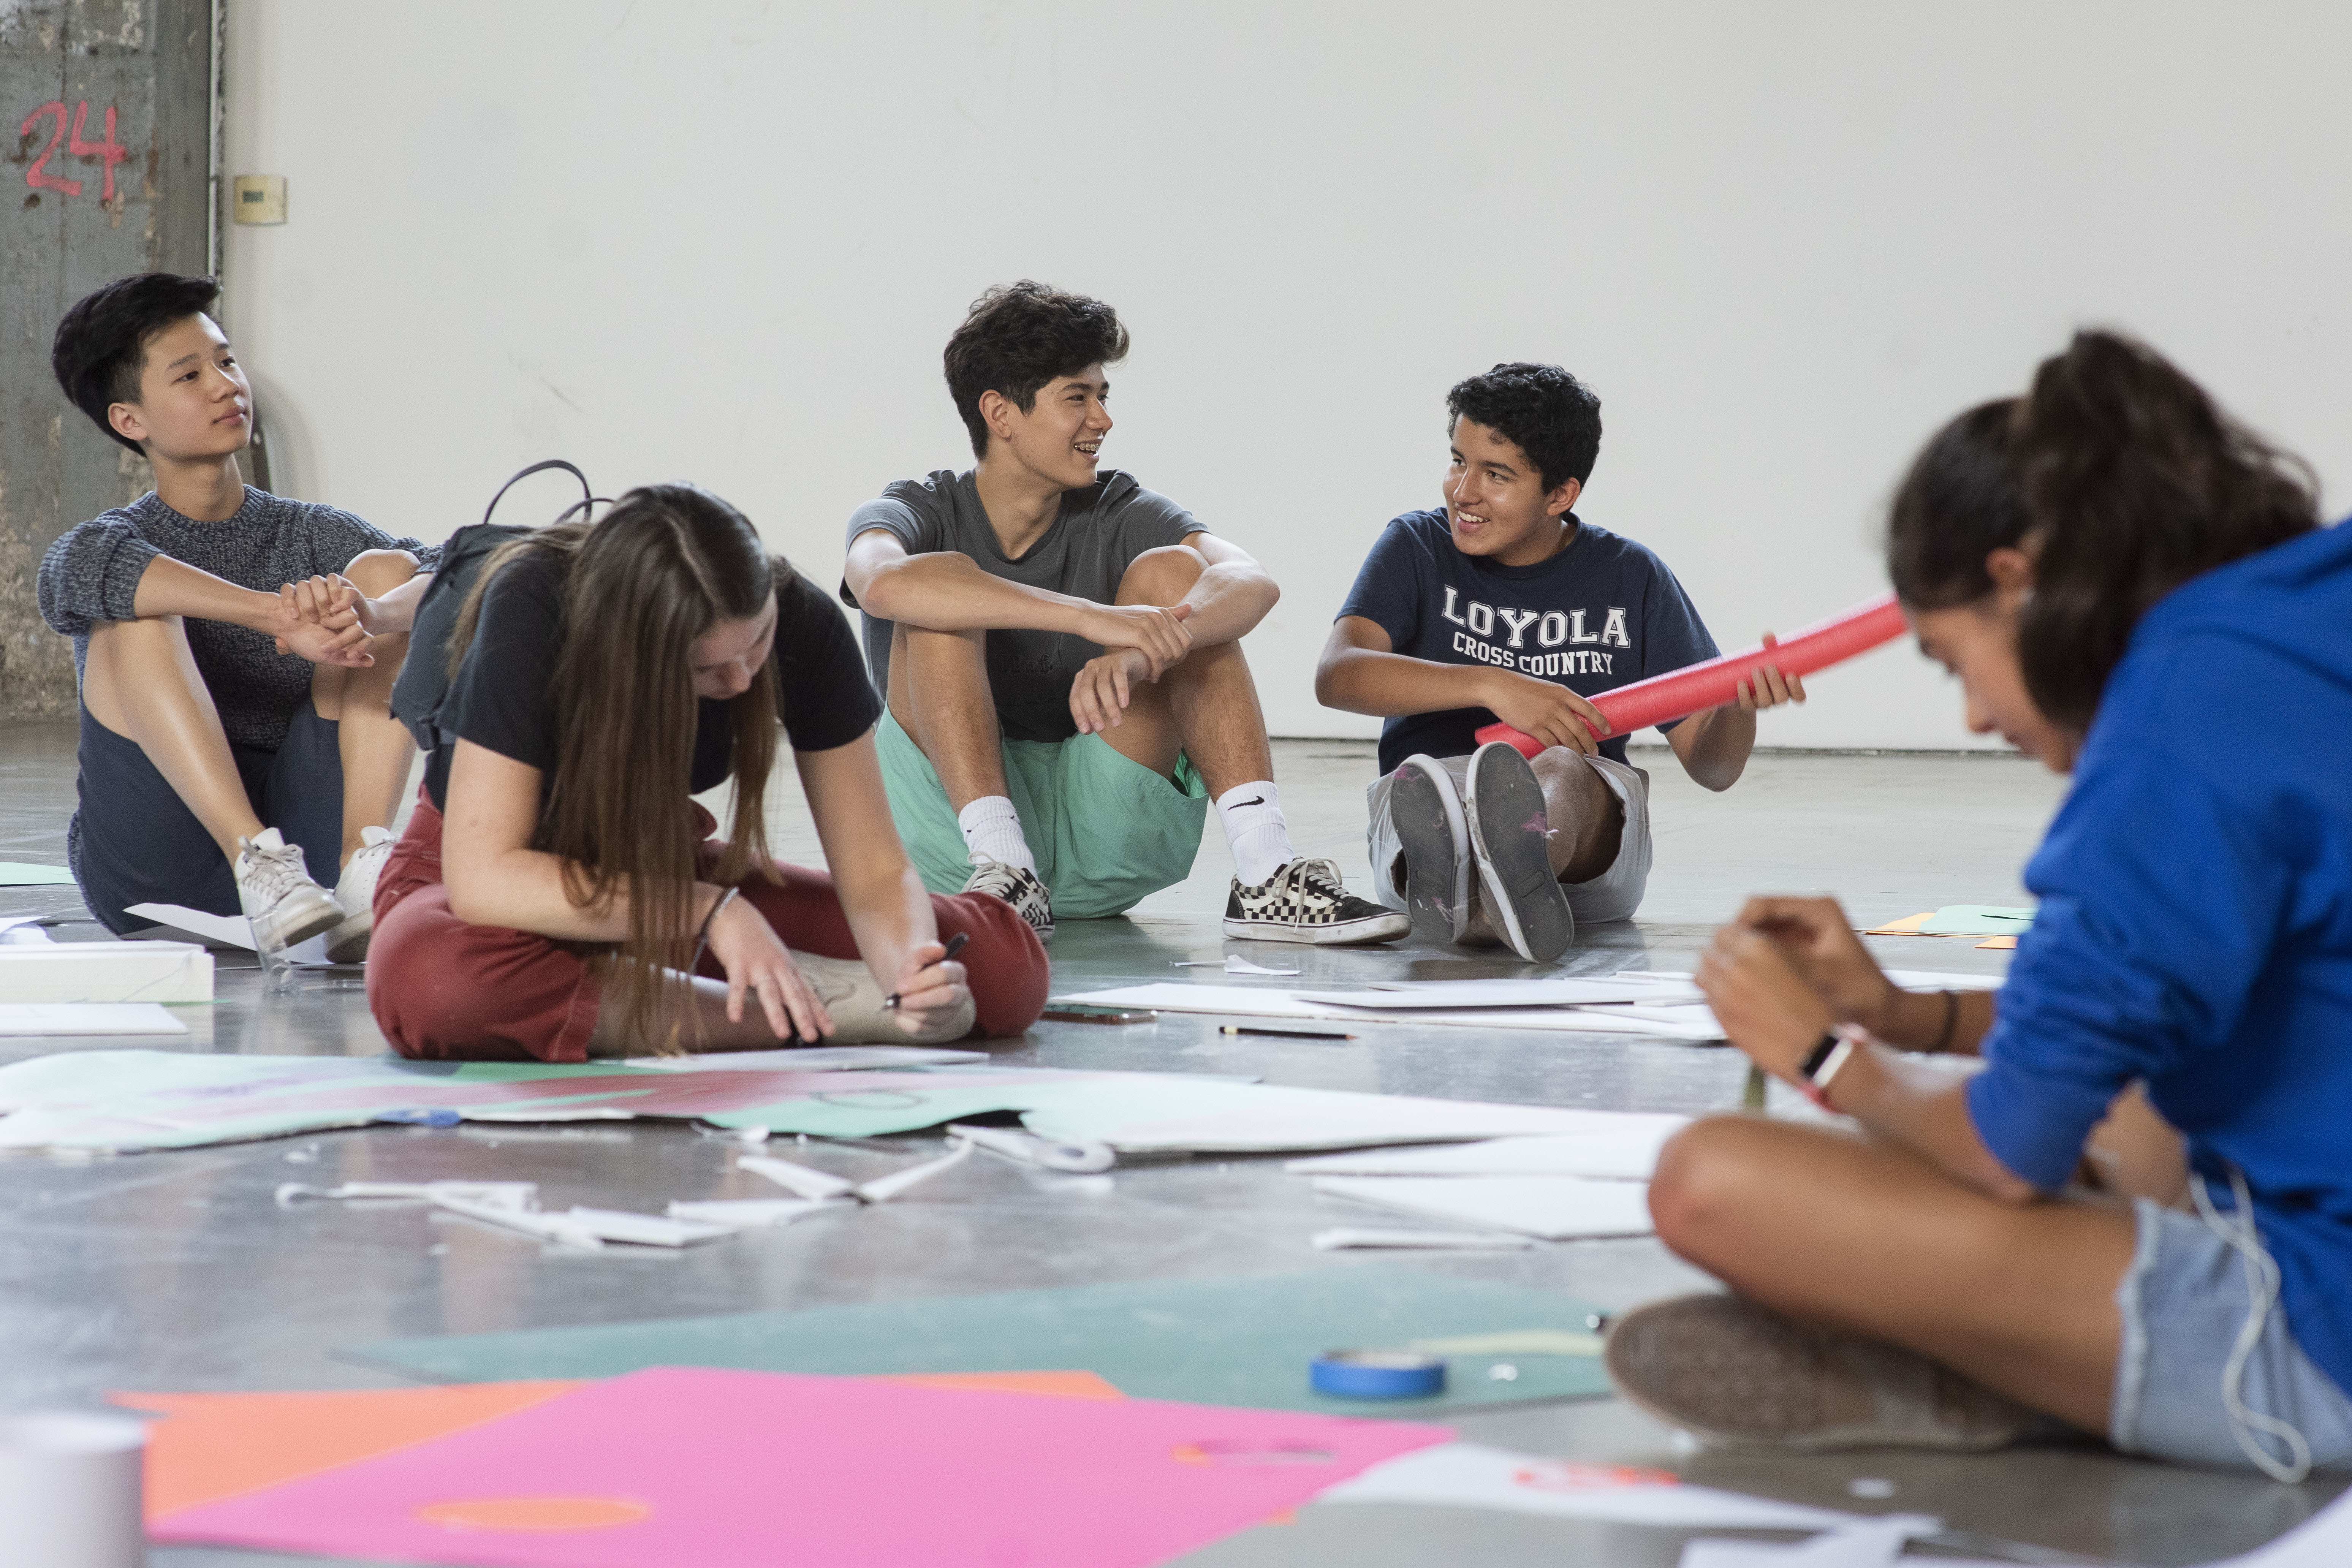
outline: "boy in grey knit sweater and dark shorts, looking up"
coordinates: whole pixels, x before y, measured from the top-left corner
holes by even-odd
[[[414,743],[390,715],[416,595],[440,550],[245,482],[252,390],[209,277],[141,273],[56,327],[82,414],[139,451],[155,489],[68,531],[40,562],[40,614],[73,637],[80,809],[66,860],[108,931],[136,903],[247,914],[275,950],[327,936],[367,957],[376,872]],[[320,618],[329,588],[355,585]],[[334,893],[313,877],[341,870]]]

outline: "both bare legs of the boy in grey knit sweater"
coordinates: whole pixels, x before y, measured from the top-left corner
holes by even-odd
[[[383,595],[416,574],[407,550],[369,550],[346,576],[367,595]],[[320,668],[310,698],[336,731],[343,759],[343,860],[360,846],[360,830],[388,825],[407,783],[412,741],[390,717],[393,679],[407,637],[379,637],[376,663],[365,670]],[[82,705],[89,717],[146,752],[165,783],[205,825],[221,856],[235,863],[238,839],[263,827],[221,731],[221,712],[188,651],[179,616],[106,621],[89,632],[82,665]],[[332,882],[332,877],[329,877]]]

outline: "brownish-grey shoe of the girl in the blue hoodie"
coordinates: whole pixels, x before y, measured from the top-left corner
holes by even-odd
[[[1602,1359],[1618,1394],[1710,1448],[1978,1453],[2053,1425],[1926,1356],[1736,1295],[1637,1307]]]

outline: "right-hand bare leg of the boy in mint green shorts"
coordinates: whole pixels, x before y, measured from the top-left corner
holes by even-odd
[[[1120,578],[1117,602],[1174,604],[1207,569],[1209,562],[1183,545],[1145,550]],[[1275,776],[1258,684],[1249,675],[1240,642],[1192,649],[1157,682],[1134,686],[1127,722],[1103,731],[1103,741],[1162,778],[1176,773],[1181,750],[1200,769],[1209,799],[1232,785]]]

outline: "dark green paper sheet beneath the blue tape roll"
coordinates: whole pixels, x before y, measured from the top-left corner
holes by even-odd
[[[1609,1392],[1595,1356],[1454,1356],[1430,1399],[1324,1399],[1308,1361],[1327,1349],[1529,1328],[1585,1331],[1583,1302],[1472,1279],[1338,1265],[1312,1274],[1155,1279],[654,1319],[593,1328],[524,1328],[339,1349],[346,1361],[435,1382],[616,1378],[644,1366],[769,1373],[997,1373],[1068,1366],[1136,1399],[1263,1410],[1425,1420],[1538,1399]],[[1489,1378],[1508,1363],[1515,1378]]]

